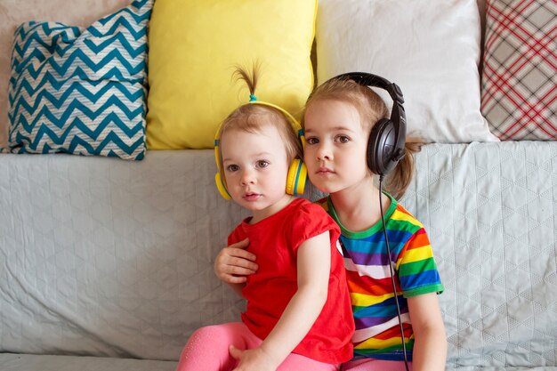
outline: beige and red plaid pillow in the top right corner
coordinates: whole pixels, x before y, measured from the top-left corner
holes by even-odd
[[[557,140],[557,3],[488,0],[481,111],[501,140]]]

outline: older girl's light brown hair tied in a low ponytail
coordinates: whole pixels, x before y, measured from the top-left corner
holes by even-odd
[[[311,104],[317,101],[342,101],[350,104],[358,111],[363,129],[367,133],[371,133],[371,129],[380,119],[391,116],[379,94],[353,80],[331,79],[316,87],[306,101],[303,117]],[[414,175],[414,153],[418,152],[423,144],[424,142],[417,138],[407,137],[405,156],[392,172],[385,176],[384,188],[394,198],[401,198],[408,189]]]

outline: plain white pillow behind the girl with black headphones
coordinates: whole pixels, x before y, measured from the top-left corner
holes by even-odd
[[[408,135],[498,141],[480,113],[476,0],[319,0],[316,40],[318,83],[351,71],[396,83]]]

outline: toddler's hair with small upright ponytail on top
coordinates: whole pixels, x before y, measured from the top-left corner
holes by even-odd
[[[246,83],[249,93],[254,96],[258,75],[258,65],[254,64],[251,73],[247,72],[246,69],[238,67],[234,71],[233,76],[236,77],[237,81]],[[239,106],[238,109],[234,109],[230,115],[222,121],[215,137],[215,140],[219,143],[219,172],[221,173],[222,180],[225,179],[224,169],[222,168],[222,135],[230,130],[240,130],[246,133],[261,133],[262,127],[266,125],[277,128],[280,139],[287,151],[288,163],[291,163],[296,157],[303,157],[302,142],[298,138],[298,133],[296,133],[295,128],[284,113],[267,105],[246,103]]]

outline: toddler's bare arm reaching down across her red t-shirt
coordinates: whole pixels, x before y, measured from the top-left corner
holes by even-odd
[[[265,341],[253,350],[230,354],[240,359],[234,371],[275,371],[295,349],[327,301],[331,266],[329,232],[307,239],[298,247],[298,290]]]

